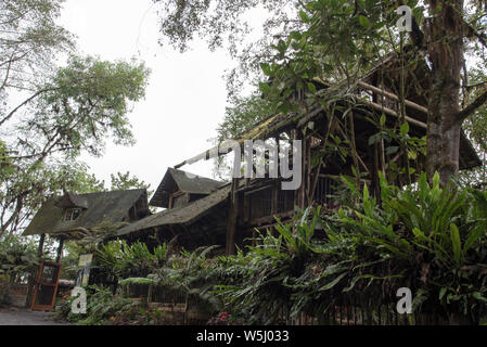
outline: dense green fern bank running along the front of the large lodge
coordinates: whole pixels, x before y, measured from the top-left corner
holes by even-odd
[[[216,246],[178,254],[166,244],[149,252],[113,242],[99,249],[99,266],[115,272],[120,293],[130,283],[178,291],[214,316],[225,312],[230,323],[279,324],[283,314],[302,313],[323,323],[345,299],[380,307],[397,303],[400,287],[411,290],[415,314],[485,322],[487,193],[440,188],[437,175],[428,184],[422,175],[405,190],[382,178],[379,200],[367,187],[359,192],[353,180],[342,181],[355,200],[331,214],[300,211],[234,256],[213,256]],[[88,319],[110,318],[117,305],[121,317],[133,309],[129,299],[107,295],[94,294]],[[101,313],[102,301],[110,304]]]

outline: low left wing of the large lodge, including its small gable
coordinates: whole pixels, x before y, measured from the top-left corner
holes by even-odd
[[[187,249],[225,244],[230,185],[182,170],[168,168],[150,201],[165,210],[130,223],[108,239],[137,240],[149,246],[178,236]]]

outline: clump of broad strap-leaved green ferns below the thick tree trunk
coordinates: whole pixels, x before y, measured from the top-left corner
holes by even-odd
[[[390,283],[425,297],[426,312],[473,320],[486,314],[487,195],[441,189],[438,175],[432,185],[422,175],[416,188],[399,191],[384,179],[381,188],[382,207],[366,189],[359,206],[341,209],[325,223],[330,239],[354,242],[356,253],[348,260],[369,264],[359,277],[348,277],[349,283],[363,277],[397,278],[400,282]],[[377,273],[371,261],[387,265],[387,271]]]

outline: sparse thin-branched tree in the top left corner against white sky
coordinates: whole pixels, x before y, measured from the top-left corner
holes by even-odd
[[[74,49],[73,35],[55,24],[63,2],[64,0],[0,2],[2,99],[7,99],[12,91],[34,90],[36,82],[52,70],[55,54]],[[3,123],[4,112],[0,108],[0,123]]]

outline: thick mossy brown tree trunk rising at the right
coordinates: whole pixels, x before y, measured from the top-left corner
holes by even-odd
[[[439,172],[441,185],[459,170],[463,0],[430,0],[428,55],[433,86],[428,104],[426,171]]]

